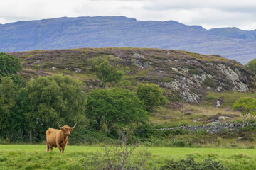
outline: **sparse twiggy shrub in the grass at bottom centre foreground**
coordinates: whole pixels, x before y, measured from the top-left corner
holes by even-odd
[[[131,129],[127,132],[119,129],[119,145],[104,147],[102,152],[92,159],[94,169],[146,169],[151,152],[144,149],[135,154],[138,145],[128,145],[131,139]]]

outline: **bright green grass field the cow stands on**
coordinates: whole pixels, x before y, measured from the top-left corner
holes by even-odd
[[[138,147],[144,149],[144,147]],[[147,169],[158,169],[168,160],[193,157],[197,162],[214,159],[235,169],[256,169],[255,149],[149,147]],[[0,169],[93,169],[92,159],[101,147],[68,146],[64,154],[58,149],[46,153],[45,145],[0,145]]]

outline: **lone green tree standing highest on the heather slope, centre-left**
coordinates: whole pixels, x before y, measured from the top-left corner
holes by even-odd
[[[95,57],[89,60],[92,64],[92,69],[95,70],[96,76],[102,81],[102,86],[107,82],[117,82],[122,79],[124,72],[117,69],[116,66],[110,64],[107,57]]]

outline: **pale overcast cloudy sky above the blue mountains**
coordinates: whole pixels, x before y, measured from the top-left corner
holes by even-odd
[[[62,16],[127,16],[255,30],[256,0],[0,0],[2,24]]]

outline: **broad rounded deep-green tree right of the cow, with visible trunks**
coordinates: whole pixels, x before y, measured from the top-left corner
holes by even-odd
[[[107,125],[111,132],[114,125],[132,125],[147,120],[146,109],[137,96],[122,89],[95,89],[87,95],[87,118],[95,121],[95,127]]]

